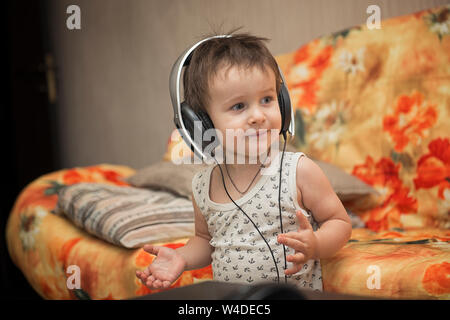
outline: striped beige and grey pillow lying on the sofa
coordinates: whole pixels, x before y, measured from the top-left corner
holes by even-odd
[[[79,183],[61,188],[56,213],[126,248],[194,234],[192,202],[165,191]]]

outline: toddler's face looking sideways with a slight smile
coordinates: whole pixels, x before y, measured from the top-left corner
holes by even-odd
[[[272,143],[279,142],[281,113],[275,74],[268,67],[265,70],[256,66],[250,69],[222,67],[210,82],[211,103],[206,109],[215,129],[222,134],[227,155],[242,155],[236,146],[245,143],[245,158],[248,159],[267,153]],[[226,149],[227,131],[234,136],[231,151]],[[255,136],[256,132],[259,135]]]

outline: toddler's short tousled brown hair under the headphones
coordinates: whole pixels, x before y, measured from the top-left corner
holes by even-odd
[[[222,66],[238,66],[247,69],[257,66],[263,72],[269,67],[276,79],[277,94],[281,76],[277,62],[263,41],[269,39],[250,35],[227,33],[229,38],[213,38],[200,44],[193,52],[189,66],[183,75],[184,100],[195,111],[203,110],[211,102],[210,81]],[[217,34],[216,34],[217,35]],[[205,38],[214,35],[206,36]]]

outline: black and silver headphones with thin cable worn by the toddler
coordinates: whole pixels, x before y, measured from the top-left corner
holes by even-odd
[[[191,150],[199,156],[202,160],[207,159],[207,154],[204,152],[205,148],[209,145],[208,141],[205,141],[206,139],[202,140],[202,145],[199,146],[194,141],[194,137],[202,137],[203,133],[206,132],[208,129],[214,129],[214,125],[211,121],[211,118],[208,116],[208,114],[205,111],[198,111],[195,112],[185,101],[181,102],[180,99],[180,81],[181,81],[181,73],[183,71],[183,68],[187,67],[191,61],[192,55],[194,53],[195,48],[197,48],[200,44],[202,44],[205,41],[208,41],[210,39],[215,38],[230,38],[232,35],[218,35],[218,36],[212,36],[206,39],[203,39],[193,46],[187,48],[175,61],[175,63],[172,66],[172,70],[170,72],[169,77],[169,91],[170,91],[170,98],[172,101],[172,107],[173,107],[173,113],[174,113],[174,123],[176,128],[178,129],[178,132],[180,133],[183,140],[186,142],[188,146],[190,146]],[[289,98],[289,91],[285,85],[285,80],[283,76],[283,72],[281,71],[280,67],[277,65],[278,70],[280,72],[281,76],[281,85],[280,85],[280,92],[278,93],[278,104],[280,106],[280,113],[281,113],[281,130],[280,134],[284,137],[284,147],[283,147],[283,153],[281,156],[281,164],[280,164],[280,183],[279,183],[279,193],[278,193],[278,207],[279,207],[279,218],[280,218],[280,229],[281,233],[283,233],[283,222],[281,218],[281,169],[283,167],[283,158],[284,158],[284,152],[286,149],[286,140],[287,140],[287,132],[289,132],[290,136],[294,136],[295,132],[295,123],[294,123],[294,111],[291,108],[291,100]],[[216,138],[217,142],[217,138]],[[217,162],[217,159],[213,156],[214,160]],[[280,274],[278,271],[278,265],[275,260],[275,256],[273,254],[272,248],[270,247],[267,240],[264,238],[262,233],[259,231],[256,224],[253,222],[253,220],[245,213],[244,210],[232,199],[230,194],[228,193],[228,190],[225,186],[225,180],[224,175],[222,172],[222,168],[220,165],[218,166],[220,169],[220,172],[222,174],[222,183],[225,189],[225,192],[227,193],[230,200],[234,203],[234,205],[242,211],[242,213],[251,221],[253,226],[258,231],[259,235],[262,237],[264,242],[266,243],[267,247],[269,248],[269,251],[272,255],[273,262],[275,264],[275,268],[277,271],[277,278],[278,283],[280,282]],[[284,266],[285,269],[287,268],[287,262],[286,262],[286,248],[283,244],[283,252],[284,252]],[[285,282],[287,283],[287,276],[285,275]]]

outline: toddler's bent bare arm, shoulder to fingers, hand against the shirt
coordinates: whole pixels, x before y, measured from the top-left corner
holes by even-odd
[[[313,213],[320,228],[313,232],[299,211],[300,229],[279,236],[279,242],[295,249],[286,257],[294,263],[287,274],[298,272],[309,259],[332,257],[351,237],[351,220],[320,167],[308,157],[297,163],[297,188],[301,203]]]

